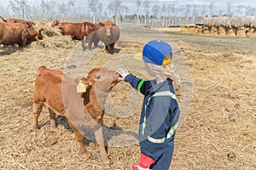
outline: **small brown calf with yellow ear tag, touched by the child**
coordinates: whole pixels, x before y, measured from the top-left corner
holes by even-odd
[[[94,131],[99,144],[102,161],[109,166],[108,154],[104,147],[102,124],[104,103],[109,91],[119,82],[119,75],[106,68],[95,68],[86,78],[79,78],[86,87],[85,93],[77,93],[78,81],[64,75],[61,71],[38,68],[33,93],[33,125],[38,129],[38,116],[43,105],[49,107],[50,126],[55,127],[55,114],[67,117],[79,142],[79,156],[85,158],[83,129]]]

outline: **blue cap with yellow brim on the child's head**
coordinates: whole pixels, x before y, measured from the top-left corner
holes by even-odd
[[[168,65],[172,62],[172,47],[166,42],[153,40],[146,43],[143,53],[134,58],[154,65]]]

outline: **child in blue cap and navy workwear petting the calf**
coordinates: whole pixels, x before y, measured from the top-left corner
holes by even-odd
[[[179,119],[172,80],[166,77],[172,71],[168,70],[172,68],[172,47],[166,42],[150,41],[143,47],[143,54],[135,58],[144,61],[145,70],[155,79],[145,81],[125,69],[117,70],[122,80],[144,95],[139,127],[141,157],[132,169],[168,170]]]

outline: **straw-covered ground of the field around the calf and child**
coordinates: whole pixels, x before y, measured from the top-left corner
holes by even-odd
[[[57,118],[58,128],[52,130],[44,108],[40,129],[32,131],[36,71],[45,65],[78,77],[95,66],[108,66],[147,77],[143,65],[132,56],[150,38],[172,41],[174,51],[180,50],[173,57],[182,55],[189,66],[183,73],[179,64],[184,60],[177,59],[181,79],[189,79],[192,98],[186,111],[189,115],[177,131],[172,169],[256,169],[255,38],[165,33],[122,30],[113,55],[106,54],[102,46],[82,51],[80,42],[61,38],[55,46],[33,42],[23,50],[1,47],[0,169],[107,169],[97,145],[91,142],[93,137],[84,141],[90,156],[79,158],[78,144],[64,117]],[[174,85],[182,99],[185,91],[177,82]],[[109,169],[131,169],[139,160],[137,126],[142,101],[143,96],[125,82],[119,82],[107,99],[104,136],[112,163]]]

